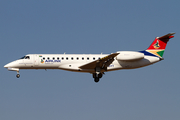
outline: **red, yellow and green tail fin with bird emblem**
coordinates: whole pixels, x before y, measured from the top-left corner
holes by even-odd
[[[174,34],[175,33],[169,33],[162,37],[156,37],[153,43],[149,46],[149,48],[146,51],[155,56],[162,58],[167,42],[169,41],[169,39],[174,37],[173,36]]]

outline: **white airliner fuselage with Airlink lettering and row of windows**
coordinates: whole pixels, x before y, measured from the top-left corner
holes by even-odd
[[[159,57],[146,55],[141,59],[121,60],[121,58],[119,58],[119,56],[122,55],[121,52],[123,53],[123,51],[119,51],[120,54],[114,58],[114,61],[107,67],[106,71],[134,69],[160,61]],[[108,54],[28,54],[24,58],[13,61],[4,67],[12,71],[19,71],[19,69],[62,69],[94,73],[95,69],[81,69],[79,67],[107,55]],[[101,72],[105,72],[105,70],[101,70]]]

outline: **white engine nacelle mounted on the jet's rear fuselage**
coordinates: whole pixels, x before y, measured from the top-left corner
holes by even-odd
[[[133,61],[140,60],[144,58],[144,53],[134,52],[134,51],[118,51],[120,53],[116,59],[121,61]]]

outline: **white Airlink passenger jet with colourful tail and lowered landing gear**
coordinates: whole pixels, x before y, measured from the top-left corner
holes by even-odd
[[[145,67],[163,60],[164,50],[175,33],[156,37],[148,49],[143,51],[117,51],[111,54],[28,54],[4,66],[9,71],[20,69],[61,69],[91,73],[99,82],[105,72]]]

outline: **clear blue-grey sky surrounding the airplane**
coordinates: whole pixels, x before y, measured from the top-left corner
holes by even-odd
[[[179,120],[178,0],[1,0],[0,120]],[[176,32],[164,60],[134,70],[7,71],[26,54],[144,50]]]

